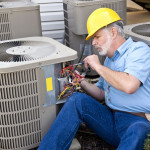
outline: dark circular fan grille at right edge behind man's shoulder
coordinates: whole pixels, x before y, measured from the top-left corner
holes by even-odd
[[[150,24],[142,24],[132,28],[132,32],[150,37]]]

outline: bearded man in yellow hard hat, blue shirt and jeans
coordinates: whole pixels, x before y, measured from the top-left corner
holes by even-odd
[[[81,122],[117,150],[142,150],[150,133],[150,48],[124,38],[121,18],[109,8],[95,10],[87,21],[88,36],[100,55],[84,59],[99,75],[96,85],[80,81],[88,94],[69,97],[39,150],[68,150]],[[106,106],[100,103],[105,99]]]

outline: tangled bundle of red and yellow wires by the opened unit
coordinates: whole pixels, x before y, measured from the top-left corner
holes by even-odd
[[[80,79],[82,78],[81,75],[75,72],[75,66],[70,65],[65,67],[60,72],[60,77],[64,78],[67,77],[67,83],[64,84],[64,90],[60,93],[58,100],[61,98],[65,98],[70,96],[74,91],[80,89]]]

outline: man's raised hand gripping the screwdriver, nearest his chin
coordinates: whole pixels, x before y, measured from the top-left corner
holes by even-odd
[[[96,68],[101,65],[97,55],[87,56],[83,61],[86,69],[88,69],[88,66],[90,66],[93,70],[96,71]]]

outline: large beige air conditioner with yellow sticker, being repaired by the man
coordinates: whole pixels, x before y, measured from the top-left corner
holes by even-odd
[[[37,147],[56,118],[61,63],[77,52],[46,37],[0,42],[0,149]]]

